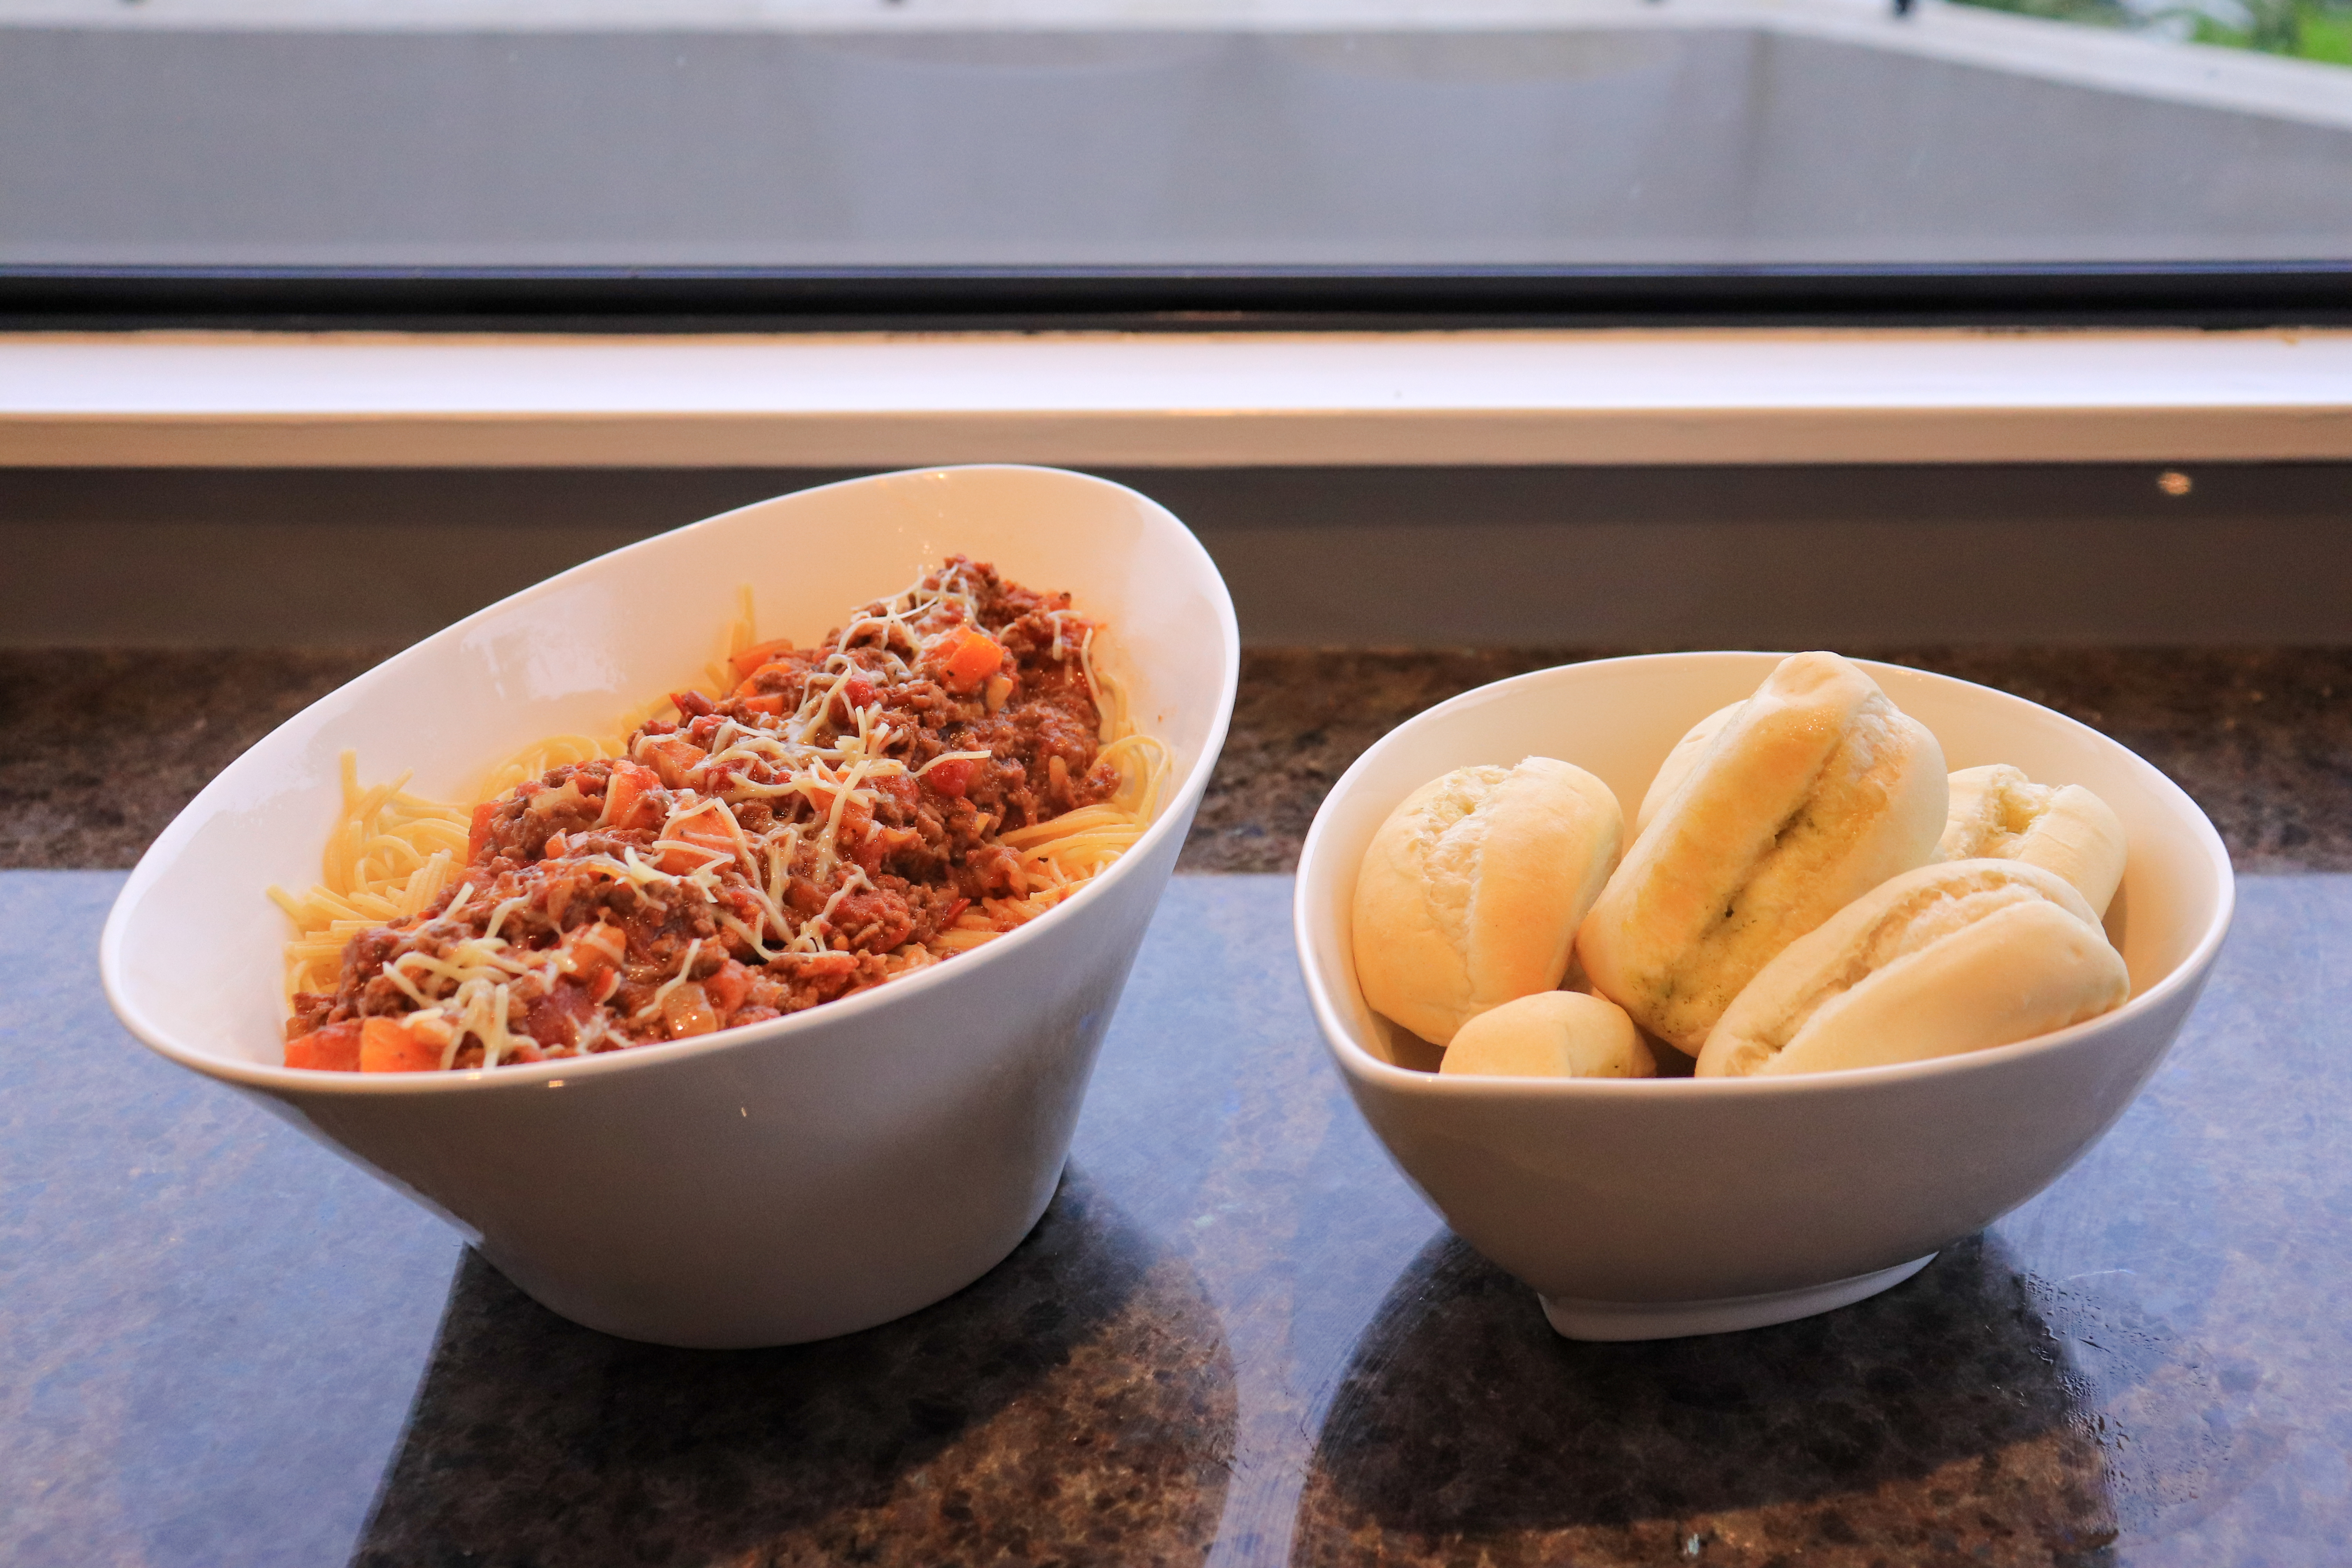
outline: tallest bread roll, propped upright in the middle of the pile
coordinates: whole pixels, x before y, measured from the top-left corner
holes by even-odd
[[[1776,952],[1924,865],[1943,748],[1837,654],[1795,654],[1700,748],[1585,917],[1592,987],[1698,1056]]]

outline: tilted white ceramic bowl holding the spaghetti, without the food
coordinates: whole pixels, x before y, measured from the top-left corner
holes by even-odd
[[[343,748],[365,780],[416,769],[463,797],[532,738],[694,679],[739,583],[762,635],[809,639],[953,550],[1105,618],[1136,722],[1176,752],[1160,820],[1089,889],[938,969],[706,1039],[466,1074],[278,1065],[287,926],[263,886],[318,879]],[[1237,670],[1209,555],[1120,484],[948,468],[764,501],[564,571],[289,719],[132,872],[106,992],[155,1051],[261,1095],[569,1319],[696,1347],[849,1333],[960,1291],[1044,1213]]]

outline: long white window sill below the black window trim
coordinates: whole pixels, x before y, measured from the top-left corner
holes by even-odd
[[[2352,458],[2352,331],[0,336],[0,465]]]

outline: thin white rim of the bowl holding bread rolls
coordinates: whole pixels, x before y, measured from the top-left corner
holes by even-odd
[[[2206,853],[2206,860],[2216,870],[2220,896],[2213,905],[2213,917],[2199,933],[2197,945],[2190,947],[2171,973],[2150,985],[2145,992],[2129,997],[2124,1006],[2112,1013],[2100,1013],[2098,1018],[2086,1018],[2084,1023],[2067,1025],[2065,1030],[2053,1030],[2049,1034],[2034,1034],[2032,1039],[2011,1041],[2006,1046],[1987,1046],[1983,1051],[1962,1051],[1957,1056],[1931,1056],[1917,1063],[1884,1063],[1872,1067],[1832,1067],[1825,1072],[1790,1072],[1790,1074],[1766,1074],[1766,1077],[1651,1077],[1651,1079],[1555,1079],[1555,1077],[1508,1077],[1508,1074],[1439,1074],[1418,1072],[1414,1067],[1399,1067],[1395,1063],[1383,1063],[1348,1030],[1334,1001],[1334,987],[1317,966],[1312,952],[1312,914],[1308,898],[1308,867],[1319,858],[1329,856],[1329,832],[1331,832],[1331,802],[1341,799],[1350,785],[1359,780],[1392,745],[1402,745],[1406,736],[1423,722],[1435,722],[1461,708],[1472,708],[1479,703],[1491,703],[1498,693],[1512,686],[1526,686],[1543,679],[1557,677],[1562,670],[1585,670],[1602,665],[1668,665],[1684,661],[1712,661],[1726,654],[1740,658],[1788,658],[1788,654],[1771,654],[1762,649],[1698,649],[1682,654],[1623,654],[1616,658],[1581,658],[1564,665],[1548,665],[1543,670],[1529,670],[1524,675],[1508,675],[1484,686],[1472,686],[1458,696],[1437,703],[1423,712],[1416,712],[1404,724],[1381,736],[1376,743],[1364,748],[1345,773],[1324,795],[1322,806],[1315,809],[1315,820],[1308,825],[1308,837],[1298,849],[1298,884],[1291,891],[1291,943],[1298,947],[1298,971],[1305,980],[1308,1004],[1315,1011],[1315,1023],[1322,1030],[1324,1048],[1338,1067],[1357,1084],[1378,1086],[1392,1093],[1414,1095],[1456,1095],[1470,1100],[1583,1100],[1583,1098],[1639,1098],[1639,1095],[1679,1095],[1679,1098],[1733,1098],[1733,1095],[1804,1095],[1804,1093],[1837,1093],[1837,1091],[1867,1091],[1879,1086],[1912,1084],[1922,1079],[1938,1079],[1966,1072],[1997,1072],[2002,1063],[2013,1063],[2030,1056],[2042,1056],[2049,1051],[2067,1051],[2093,1034],[2103,1034],[2131,1018],[2157,1011],[2171,1004],[2183,990],[2194,990],[2204,983],[2206,971],[2213,966],[2213,957],[2220,952],[2223,938],[2230,933],[2230,919],[2237,912],[2237,875],[2230,867],[2230,849],[2223,844],[2220,832],[2213,827],[2213,818],[2204,813],[2187,790],[2173,783],[2159,766],[2140,757],[2136,750],[2103,736],[2089,724],[2072,719],[2056,708],[2034,703],[2032,698],[2016,696],[2013,691],[2002,691],[1997,686],[1985,686],[1980,682],[1962,679],[1957,675],[1943,675],[1938,670],[1919,670],[1915,665],[1896,665],[1879,658],[1856,658],[1853,663],[1867,670],[1872,677],[1893,670],[1900,679],[1926,679],[1931,684],[1966,686],[1969,691],[1980,691],[2004,703],[2023,703],[2042,715],[2049,715],[2058,724],[2082,731],[2100,748],[2114,750],[2129,759],[2133,769],[2159,785],[2159,795],[2169,795],[2176,804],[2187,809],[2187,820],[2194,823],[2192,837],[2197,846]]]

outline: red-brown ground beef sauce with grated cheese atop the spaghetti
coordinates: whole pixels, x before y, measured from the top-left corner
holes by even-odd
[[[435,966],[492,933],[520,969],[506,1060],[757,1023],[936,961],[960,917],[1025,891],[997,835],[1120,783],[1098,762],[1091,630],[1068,595],[950,557],[816,646],[739,656],[731,691],[677,693],[626,757],[482,804],[459,886],[353,938],[289,1039],[447,1004]],[[477,1032],[452,1039],[454,1065],[482,1060]]]

